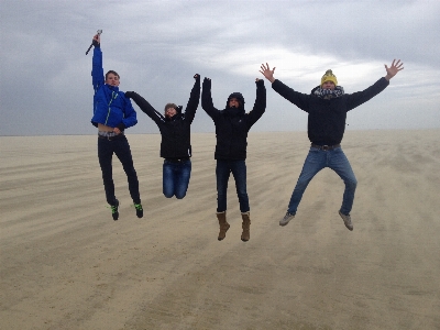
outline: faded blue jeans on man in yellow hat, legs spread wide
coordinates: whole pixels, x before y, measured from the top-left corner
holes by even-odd
[[[354,191],[356,190],[358,180],[354,176],[353,169],[345,157],[341,147],[334,150],[322,151],[316,147],[310,147],[309,154],[304,162],[301,174],[299,175],[298,183],[292,194],[290,202],[287,211],[295,215],[298,205],[301,201],[302,194],[314,176],[324,167],[333,169],[344,182],[345,190],[342,197],[342,206],[340,211],[343,215],[349,215],[353,207]]]

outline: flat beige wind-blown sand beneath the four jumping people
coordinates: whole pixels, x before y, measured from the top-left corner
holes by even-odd
[[[1,329],[440,329],[440,130],[345,133],[353,232],[328,168],[279,227],[307,133],[251,132],[246,243],[232,178],[217,240],[213,133],[193,134],[183,200],[162,195],[160,135],[128,138],[145,217],[114,158],[119,221],[96,136],[0,138]]]

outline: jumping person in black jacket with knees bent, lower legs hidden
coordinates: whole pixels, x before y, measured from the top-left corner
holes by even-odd
[[[161,135],[161,157],[163,165],[163,193],[165,197],[176,196],[182,199],[186,196],[191,175],[191,141],[190,127],[196,116],[200,99],[200,76],[196,79],[185,110],[182,106],[167,103],[165,113],[157,112],[143,97],[134,91],[127,91],[125,97],[131,98],[139,108],[157,124]]]

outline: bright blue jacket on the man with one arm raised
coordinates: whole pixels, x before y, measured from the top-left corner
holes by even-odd
[[[91,78],[95,89],[91,123],[95,127],[101,123],[110,128],[119,128],[121,131],[135,125],[136,111],[130,99],[125,98],[118,87],[105,84],[102,52],[99,46],[94,50]]]

